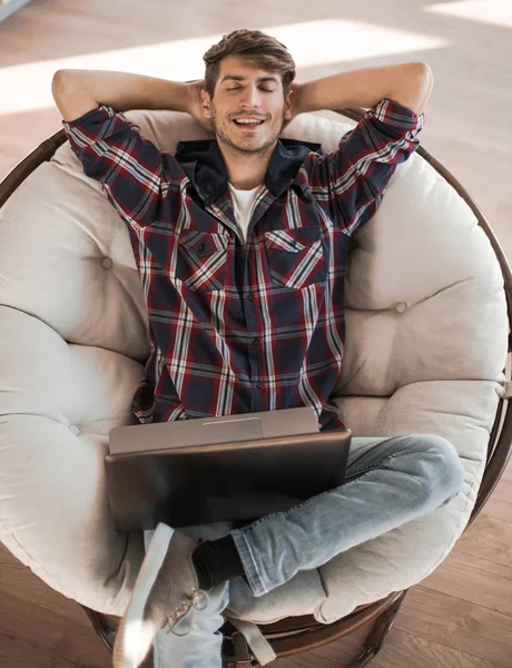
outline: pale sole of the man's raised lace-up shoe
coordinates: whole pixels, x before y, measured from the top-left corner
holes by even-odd
[[[114,668],[138,668],[148,654],[151,642],[148,644],[147,631],[144,631],[144,612],[173,533],[174,529],[160,523],[152,536],[131,600],[117,631],[112,654]]]

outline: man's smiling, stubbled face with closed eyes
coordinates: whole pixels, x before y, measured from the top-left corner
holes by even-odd
[[[217,141],[243,154],[274,148],[292,118],[291,99],[291,92],[283,97],[280,75],[238,56],[220,61],[213,98],[201,91],[203,114],[211,119]]]

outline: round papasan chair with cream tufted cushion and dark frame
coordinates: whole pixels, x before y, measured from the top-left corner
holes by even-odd
[[[283,136],[333,150],[363,114],[302,115]],[[127,116],[161,150],[207,137],[185,114]],[[142,287],[125,224],[63,130],[3,180],[0,206],[0,538],[78,601],[111,649],[110,576],[127,537],[114,525],[104,458],[110,429],[136,423],[130,403],[149,355]],[[447,557],[511,453],[510,266],[471,197],[423,147],[354,237],[345,308],[335,401],[347,426],[356,436],[445,436],[465,482],[435,512],[269,595],[255,598],[233,580],[228,668],[265,665],[374,621],[349,664],[365,666],[407,589]]]

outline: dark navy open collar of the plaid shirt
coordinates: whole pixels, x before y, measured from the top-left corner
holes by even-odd
[[[265,175],[265,185],[278,197],[295,180],[307,154],[322,153],[321,144],[298,139],[278,139]],[[175,158],[209,205],[227,189],[226,168],[216,139],[180,141]]]

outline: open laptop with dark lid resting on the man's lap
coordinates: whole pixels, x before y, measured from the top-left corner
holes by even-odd
[[[120,531],[249,523],[343,484],[352,432],[311,407],[118,426],[106,473]]]

